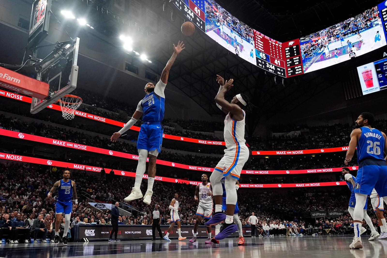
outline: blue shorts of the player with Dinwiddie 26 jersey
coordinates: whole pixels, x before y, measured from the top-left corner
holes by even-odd
[[[365,165],[359,168],[354,192],[371,195],[373,188],[380,197],[387,196],[387,166]]]

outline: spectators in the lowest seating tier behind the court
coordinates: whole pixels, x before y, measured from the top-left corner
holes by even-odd
[[[43,236],[53,239],[51,232],[55,230],[55,197],[54,199],[48,198],[47,193],[57,180],[62,179],[63,170],[65,168],[55,167],[54,169],[47,165],[9,161],[0,163],[0,233],[10,240],[9,243],[18,243],[19,240],[19,242],[27,243],[29,236],[39,237],[39,234],[34,234],[40,233],[39,231]],[[79,206],[73,212],[72,224],[67,229],[69,237],[74,232],[75,224],[110,224],[109,212],[93,209],[87,203],[89,200],[122,202],[134,185],[132,179],[121,176],[110,177],[110,175],[106,177],[101,179],[99,175],[87,174],[85,171],[72,171],[71,179],[77,182]],[[145,189],[144,184],[146,182],[143,182],[142,189]],[[120,216],[120,224],[151,224],[154,204],[159,205],[162,214],[161,223],[169,224],[168,206],[175,192],[179,195],[178,201],[182,207],[180,211],[182,225],[193,225],[198,205],[198,201],[195,201],[193,197],[195,185],[165,182],[155,182],[154,196],[150,205],[144,204],[142,200],[130,202],[130,207],[134,208],[133,216]],[[346,210],[349,199],[348,189],[343,191],[341,188],[329,192],[319,189],[308,189],[308,191],[297,189],[297,191],[292,191],[291,195],[272,191],[257,192],[253,195],[244,194],[248,192],[248,189],[240,189],[238,192],[239,216],[242,224],[248,226],[248,218],[252,212],[255,212],[255,216],[259,219],[258,233],[260,235],[279,234],[276,228],[280,228],[281,224],[288,229],[281,231],[283,234],[338,234],[348,233],[351,230],[352,221],[347,212],[332,221],[318,220],[316,223],[311,223],[311,219],[305,220],[310,211]],[[373,212],[369,213],[373,218],[373,223],[377,226],[375,215]],[[201,222],[203,223],[204,221]],[[278,227],[270,228],[271,224],[277,224]],[[62,221],[60,228],[62,233],[65,230],[63,226]],[[266,231],[265,229],[272,230]]]

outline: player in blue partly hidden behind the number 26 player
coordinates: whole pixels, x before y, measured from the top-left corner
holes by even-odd
[[[349,212],[349,214],[351,214],[351,218],[353,218],[353,211],[354,211],[354,208],[356,205],[356,198],[355,198],[355,192],[354,192],[354,188],[356,185],[355,184],[356,177],[354,177],[353,175],[351,175],[349,173],[348,167],[342,168],[341,172],[342,172],[342,175],[345,179],[345,182],[348,185],[349,191],[351,191],[351,197],[349,198],[349,204],[348,204],[348,212]],[[367,214],[367,201],[365,202],[365,206],[363,208],[363,213],[364,213],[364,220],[371,229],[371,237],[368,238],[368,240],[373,241],[373,240],[377,239],[380,236],[380,234],[375,230],[375,227],[372,224],[372,220],[371,220],[370,216],[368,216],[368,214]],[[367,230],[362,227],[360,229],[360,234],[363,234],[365,231],[367,231]]]

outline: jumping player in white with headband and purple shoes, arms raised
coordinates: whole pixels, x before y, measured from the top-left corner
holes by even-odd
[[[233,79],[224,82],[224,79],[217,75],[220,84],[219,91],[215,97],[216,105],[226,113],[224,119],[224,141],[226,149],[224,156],[216,165],[211,174],[212,195],[215,199],[215,213],[212,218],[205,223],[206,226],[217,225],[224,222],[220,233],[214,238],[224,239],[235,232],[238,227],[234,224],[235,204],[238,201],[235,183],[239,179],[241,170],[249,157],[249,150],[245,144],[245,111],[250,109],[249,99],[244,94],[237,94],[231,103],[224,99],[224,94],[233,86]],[[223,187],[221,179],[224,180],[226,190],[226,214],[222,212]]]

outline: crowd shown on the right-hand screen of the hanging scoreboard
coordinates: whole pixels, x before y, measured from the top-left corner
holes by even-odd
[[[372,23],[378,19],[378,7],[375,6],[356,17],[351,17],[327,29],[310,34],[308,36],[310,42],[301,44],[302,55],[305,57],[313,56],[315,52],[321,51],[325,49],[325,47],[329,47],[329,43],[336,42],[373,27]],[[381,23],[381,21],[379,22]],[[344,41],[346,42],[346,40]],[[332,49],[330,49],[330,51],[332,51]]]

